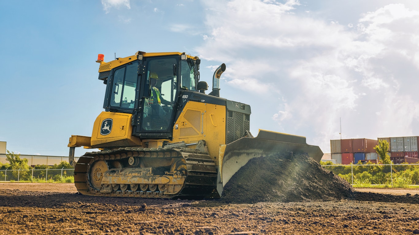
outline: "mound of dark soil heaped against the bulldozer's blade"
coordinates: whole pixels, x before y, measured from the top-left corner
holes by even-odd
[[[352,197],[352,186],[306,154],[251,159],[228,181],[222,201],[331,201]]]

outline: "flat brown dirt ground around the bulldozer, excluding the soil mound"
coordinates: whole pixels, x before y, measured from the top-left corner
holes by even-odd
[[[71,183],[1,183],[0,234],[419,233],[419,205],[404,202],[417,189],[356,190],[404,195],[388,194],[396,200],[392,203],[341,199],[227,204],[83,196]]]

